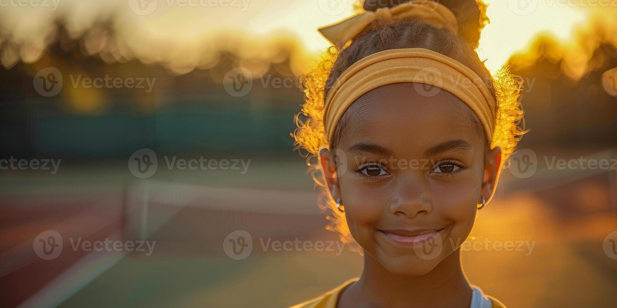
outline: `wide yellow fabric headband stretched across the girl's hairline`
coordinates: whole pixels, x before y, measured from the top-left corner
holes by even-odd
[[[392,83],[434,86],[421,95],[443,89],[465,102],[478,116],[489,144],[495,128],[495,99],[482,79],[457,60],[424,48],[389,49],[354,63],[329,89],[324,102],[323,124],[332,140],[336,124],[360,96]]]

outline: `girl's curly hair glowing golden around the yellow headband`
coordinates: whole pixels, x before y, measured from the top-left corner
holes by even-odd
[[[478,2],[477,5],[474,4],[474,9],[479,14],[479,18],[476,19],[478,20],[478,23],[476,23],[478,25],[477,38],[479,38],[479,30],[489,20],[484,14],[486,5],[482,2]],[[459,23],[461,23],[462,18],[458,16],[462,15],[463,18],[469,18],[469,14],[461,11],[460,7],[459,10],[453,10],[455,14],[458,14]],[[470,33],[465,28],[468,23],[461,25],[462,30],[466,33]],[[330,224],[326,225],[326,229],[339,232],[341,241],[346,243],[352,251],[361,252],[361,249],[349,232],[345,213],[336,209],[334,200],[329,197],[323,177],[318,175],[321,171],[318,161],[320,148],[335,146],[337,138],[340,136],[335,132],[333,140],[328,140],[324,130],[324,99],[328,94],[328,89],[333,86],[342,72],[352,64],[379,51],[421,47],[447,55],[481,76],[491,94],[494,95],[497,102],[495,130],[492,136],[492,144],[487,146],[502,148],[503,166],[507,168],[508,158],[515,151],[516,145],[526,132],[523,130],[523,108],[519,100],[522,81],[518,76],[511,75],[506,67],[491,75],[474,51],[474,42],[477,42],[477,38],[473,38],[473,32],[471,36],[472,38],[465,35],[458,36],[446,29],[434,28],[416,19],[399,20],[394,23],[384,22],[377,28],[358,36],[346,47],[341,49],[335,46],[329,47],[324,52],[321,63],[304,75],[305,103],[302,105],[300,113],[294,117],[297,129],[291,134],[296,140],[294,150],[298,150],[300,155],[306,158],[309,174],[315,180],[315,187],[320,188],[321,201],[318,205],[324,211],[331,210],[331,214],[326,216],[330,221]],[[467,38],[466,41],[465,38]]]

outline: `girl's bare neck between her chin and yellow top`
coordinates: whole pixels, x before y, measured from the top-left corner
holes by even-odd
[[[392,274],[365,253],[362,277],[354,287],[359,302],[378,307],[469,307],[471,287],[454,251],[427,274],[401,277]],[[352,288],[350,286],[350,288]]]

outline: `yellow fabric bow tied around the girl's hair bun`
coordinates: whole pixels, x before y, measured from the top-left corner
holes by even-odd
[[[376,27],[378,20],[418,18],[423,22],[458,33],[456,16],[443,4],[431,0],[411,0],[394,7],[366,11],[334,25],[320,28],[320,33],[335,46],[344,46],[358,35]]]

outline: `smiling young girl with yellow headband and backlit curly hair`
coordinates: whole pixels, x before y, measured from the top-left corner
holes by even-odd
[[[466,280],[459,246],[523,134],[521,84],[474,52],[481,2],[383,2],[320,29],[331,59],[293,134],[362,276],[294,307],[503,307]]]

